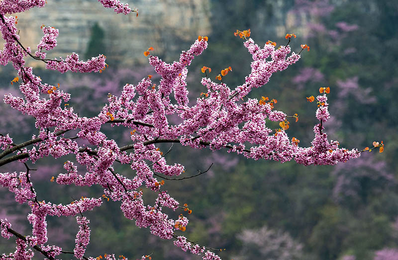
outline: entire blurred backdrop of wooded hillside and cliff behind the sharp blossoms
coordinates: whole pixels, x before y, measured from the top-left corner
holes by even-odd
[[[317,124],[316,107],[306,102],[319,87],[329,86],[329,111],[325,124],[330,139],[341,147],[363,149],[383,140],[385,152],[363,153],[359,159],[337,166],[304,167],[253,161],[225,150],[210,152],[174,145],[169,163],[186,166],[187,176],[209,172],[184,181],[167,181],[165,189],[193,214],[187,236],[200,245],[225,248],[219,253],[230,260],[398,260],[398,1],[396,0],[127,0],[139,9],[128,16],[104,9],[97,0],[49,0],[42,9],[18,14],[21,42],[35,51],[42,36],[40,26],[59,29],[58,46],[48,58],[77,52],[81,59],[104,54],[109,64],[103,73],[59,74],[44,64],[27,59],[44,82],[60,83],[72,94],[70,106],[80,116],[95,116],[107,94],[118,95],[125,83],[136,84],[155,75],[143,52],[153,46],[154,55],[166,62],[179,58],[198,35],[209,37],[209,47],[190,66],[191,100],[204,90],[200,67],[217,71],[231,66],[225,77],[230,86],[240,85],[250,71],[251,56],[236,29],[251,29],[251,37],[263,46],[267,40],[284,45],[287,33],[295,33],[293,51],[308,44],[300,61],[274,74],[268,84],[250,93],[278,100],[276,109],[289,115],[290,136],[308,146]],[[16,76],[9,66],[0,68],[0,96],[18,93],[10,85]],[[156,79],[156,78],[155,78]],[[157,77],[159,79],[159,77]],[[31,118],[0,104],[0,132],[18,143],[37,134]],[[129,129],[104,131],[119,144],[129,141]],[[170,145],[161,146],[162,150]],[[193,160],[195,158],[195,160]],[[51,183],[63,172],[69,158],[44,158],[31,168],[40,200],[68,203],[72,197],[100,196],[99,187],[79,188]],[[130,168],[116,166],[126,176]],[[1,167],[1,172],[24,171],[20,163]],[[27,205],[0,188],[0,218],[15,230],[30,234]],[[154,195],[146,192],[147,202]],[[139,229],[123,217],[119,203],[108,202],[85,214],[92,229],[86,256],[115,254],[129,259],[153,253],[154,260],[199,260]],[[170,212],[176,218],[181,212]],[[48,217],[49,243],[73,251],[78,224],[74,218]],[[180,235],[180,234],[178,234]],[[0,252],[14,251],[14,242],[0,240]],[[70,257],[70,256],[69,256]],[[41,256],[35,256],[40,259]],[[62,256],[62,259],[70,259]]]

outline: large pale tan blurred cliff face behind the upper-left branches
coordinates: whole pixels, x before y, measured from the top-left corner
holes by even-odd
[[[193,42],[198,35],[209,33],[209,0],[124,0],[138,8],[139,15],[116,14],[98,0],[48,0],[44,8],[33,8],[17,14],[19,35],[32,52],[42,37],[40,26],[53,26],[60,31],[58,46],[48,58],[66,57],[72,52],[84,53],[97,22],[105,32],[106,56],[113,64],[132,65],[146,61],[143,52],[150,46],[163,58],[175,56],[176,43]],[[27,59],[29,65],[44,66]],[[146,63],[146,62],[145,62]]]

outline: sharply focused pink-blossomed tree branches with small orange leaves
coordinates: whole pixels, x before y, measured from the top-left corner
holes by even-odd
[[[99,1],[117,13],[129,14],[133,11],[138,15],[138,9],[131,10],[119,0]],[[186,213],[191,214],[192,210],[187,204],[181,205],[175,200],[165,187],[167,182],[190,177],[178,177],[185,173],[185,167],[178,163],[168,164],[165,155],[170,150],[163,153],[157,146],[160,143],[180,143],[196,149],[227,149],[249,159],[281,163],[295,160],[303,165],[334,165],[357,158],[365,150],[384,149],[383,142],[374,142],[372,148],[349,150],[339,147],[338,141],[328,139],[322,124],[330,117],[327,103],[329,87],[321,87],[316,98],[307,97],[309,102],[316,101],[315,115],[319,120],[313,128],[314,139],[310,147],[301,147],[296,137],[288,136],[288,119],[297,122],[297,114],[289,116],[275,110],[276,99],[246,97],[253,88],[266,84],[273,73],[296,63],[302,50],[309,51],[307,45],[301,45],[299,53],[291,51],[289,44],[292,37],[296,38],[294,34],[286,36],[288,42],[285,46],[276,47],[274,42],[268,41],[260,47],[249,38],[250,30],[237,30],[235,36],[244,40],[243,44],[253,58],[250,74],[243,84],[230,87],[222,79],[232,73],[231,67],[210,78],[208,73],[211,69],[203,66],[205,76],[201,84],[206,92],[198,93],[193,101],[188,98],[188,66],[195,56],[207,48],[208,38],[199,36],[189,50],[181,53],[179,61],[171,64],[152,55],[155,50],[150,47],[144,55],[159,75],[160,82],[154,84],[152,75],[148,75],[135,85],[126,84],[121,93],[108,96],[108,103],[98,111],[97,116],[81,117],[79,111],[74,111],[67,103],[73,98],[71,94],[57,83],[42,82],[33,73],[33,68],[25,65],[25,59],[40,60],[45,63],[46,69],[61,73],[87,73],[106,69],[106,58],[99,55],[81,61],[79,55],[73,53],[66,58],[48,59],[46,51],[56,47],[59,34],[58,29],[48,26],[42,27],[43,37],[34,53],[30,47],[24,47],[19,41],[17,17],[12,14],[32,7],[44,7],[45,4],[45,0],[5,0],[0,4],[0,30],[5,41],[0,52],[0,63],[13,65],[17,76],[11,84],[18,86],[20,91],[19,96],[6,94],[3,101],[18,113],[31,116],[39,132],[22,143],[14,143],[10,133],[2,132],[0,135],[0,166],[15,161],[24,165],[22,171],[0,173],[0,185],[14,194],[16,202],[29,206],[27,218],[32,225],[31,234],[21,234],[6,218],[0,220],[1,236],[16,239],[15,251],[4,252],[1,260],[30,260],[34,254],[41,254],[50,260],[61,254],[94,260],[93,256],[85,256],[91,228],[90,220],[84,215],[108,201],[119,201],[127,219],[134,220],[140,228],[149,228],[155,236],[174,240],[174,245],[183,251],[201,255],[204,260],[220,259],[213,252],[220,249],[205,247],[182,235],[189,222]],[[179,122],[170,123],[168,117],[171,116],[177,117]],[[270,121],[279,122],[280,128],[269,128]],[[129,140],[126,142],[123,139],[125,143],[120,143],[120,140],[117,142],[109,138],[101,131],[105,125],[126,129],[130,132]],[[103,189],[103,193],[98,197],[82,196],[67,204],[42,200],[30,181],[33,170],[30,165],[43,157],[63,156],[73,159],[63,164],[63,172],[54,174],[51,179],[54,185],[96,185]],[[129,165],[134,176],[116,172],[115,164]],[[143,189],[156,195],[154,204],[144,204]],[[175,214],[166,214],[165,208],[172,209]],[[47,216],[76,218],[79,230],[76,231],[74,249],[63,249],[48,241]],[[117,257],[114,254],[97,257],[102,258],[115,260]],[[146,258],[151,259],[151,256],[142,256],[142,260]],[[119,259],[126,258],[119,256]]]

